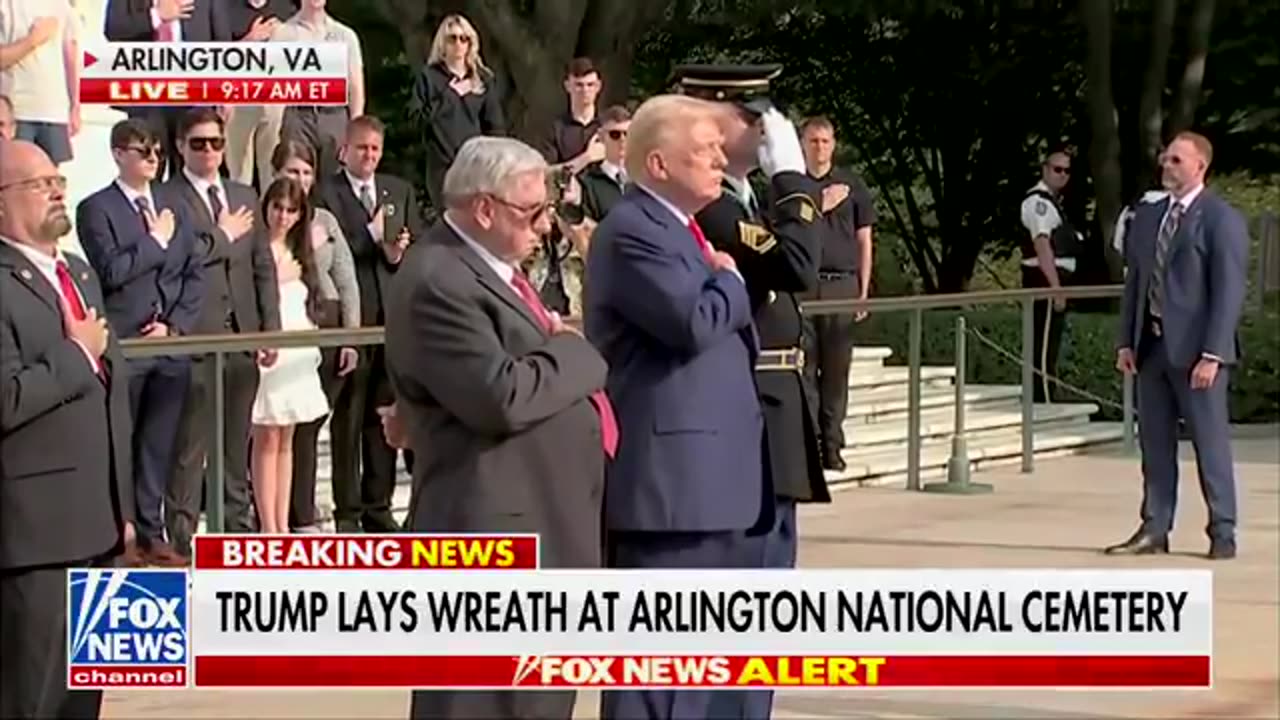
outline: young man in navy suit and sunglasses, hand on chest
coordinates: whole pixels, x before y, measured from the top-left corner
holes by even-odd
[[[138,118],[111,128],[119,176],[76,209],[81,247],[102,282],[106,316],[125,338],[189,334],[205,296],[204,256],[180,202],[156,183],[160,138]],[[129,366],[138,557],[179,568],[187,559],[165,539],[164,493],[191,380],[187,356],[138,357]]]

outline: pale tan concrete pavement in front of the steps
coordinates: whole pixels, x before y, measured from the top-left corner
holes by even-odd
[[[1181,507],[1165,557],[1111,559],[1105,544],[1137,525],[1138,459],[1119,450],[980,473],[991,496],[891,488],[841,492],[803,512],[808,568],[1204,568],[1215,571],[1215,687],[1201,692],[791,691],[776,717],[1277,717],[1280,716],[1280,429],[1235,443],[1240,556],[1207,565],[1194,456],[1183,452]],[[577,716],[594,717],[582,693]],[[404,717],[408,696],[380,691],[113,692],[104,716]]]

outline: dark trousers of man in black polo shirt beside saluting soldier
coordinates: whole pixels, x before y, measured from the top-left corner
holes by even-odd
[[[819,300],[852,300],[859,282],[854,273],[822,274]],[[845,415],[849,413],[849,364],[854,354],[854,315],[804,318],[805,389],[809,406],[817,410],[823,457],[840,457],[845,447]]]

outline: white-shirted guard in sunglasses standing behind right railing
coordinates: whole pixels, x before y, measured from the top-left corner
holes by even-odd
[[[1071,178],[1071,155],[1056,150],[1044,159],[1041,179],[1027,191],[1020,215],[1023,236],[1023,287],[1062,287],[1070,283],[1082,250],[1080,233],[1071,227],[1062,208],[1062,190]],[[1034,304],[1033,400],[1052,402],[1052,378],[1057,377],[1057,354],[1062,343],[1066,300],[1037,300]]]

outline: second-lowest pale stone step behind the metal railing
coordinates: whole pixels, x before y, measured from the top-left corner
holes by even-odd
[[[1061,423],[1087,421],[1098,411],[1089,402],[1060,402],[1033,407],[1032,421],[1038,428]],[[974,433],[1004,428],[1020,428],[1021,404],[1018,400],[965,406],[965,437]],[[948,439],[955,432],[955,402],[920,413],[920,437]],[[877,423],[845,421],[846,448],[876,446],[901,446],[906,448],[906,416]]]

